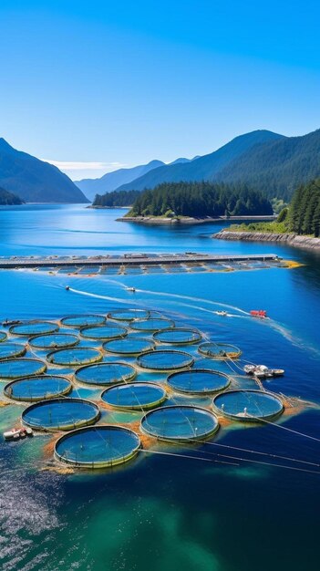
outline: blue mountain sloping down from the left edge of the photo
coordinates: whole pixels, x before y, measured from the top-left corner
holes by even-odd
[[[0,185],[26,202],[88,202],[67,174],[0,139]]]

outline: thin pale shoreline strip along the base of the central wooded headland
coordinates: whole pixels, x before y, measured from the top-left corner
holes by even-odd
[[[196,218],[192,216],[181,216],[180,218],[162,218],[161,216],[124,216],[122,218],[117,218],[117,222],[133,222],[139,224],[150,224],[150,225],[162,225],[162,224],[203,224],[212,222],[245,222],[245,221],[256,221],[256,222],[269,222],[274,221],[274,216],[217,216],[212,218],[210,216],[205,216],[204,218]]]

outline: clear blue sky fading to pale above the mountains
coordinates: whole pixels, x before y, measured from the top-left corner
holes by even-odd
[[[83,178],[304,134],[319,21],[315,0],[1,0],[0,136]]]

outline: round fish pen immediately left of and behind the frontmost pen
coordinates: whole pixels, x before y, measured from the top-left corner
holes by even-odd
[[[38,431],[72,431],[94,424],[99,416],[100,410],[94,402],[66,397],[31,404],[21,418],[26,426]]]

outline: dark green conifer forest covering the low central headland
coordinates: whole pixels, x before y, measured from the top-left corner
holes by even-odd
[[[139,192],[129,216],[224,216],[272,214],[271,203],[246,184],[163,182]]]

